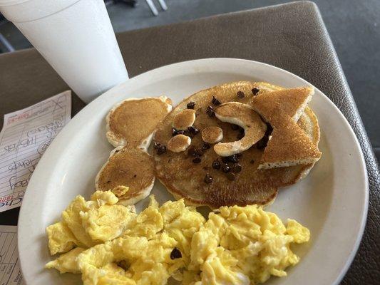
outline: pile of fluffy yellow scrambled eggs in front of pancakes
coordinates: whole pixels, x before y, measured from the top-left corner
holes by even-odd
[[[82,274],[83,284],[259,284],[286,276],[299,257],[292,243],[307,242],[309,230],[292,219],[287,227],[256,205],[220,207],[206,219],[183,199],[139,214],[118,205],[111,192],[90,201],[78,196],[61,222],[46,229],[51,254],[46,268]]]

